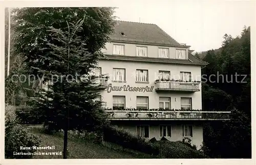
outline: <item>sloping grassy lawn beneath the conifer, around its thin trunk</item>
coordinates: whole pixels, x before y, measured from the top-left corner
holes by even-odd
[[[29,126],[30,132],[38,135],[42,142],[40,146],[55,146],[55,150],[37,150],[40,152],[60,152],[62,155],[35,155],[34,159],[62,159],[63,157],[63,135],[48,135],[40,132],[38,126]],[[103,145],[94,144],[90,141],[82,141],[69,137],[68,140],[69,159],[109,159],[109,158],[156,158],[154,156],[134,150],[122,150],[118,145],[104,142]]]

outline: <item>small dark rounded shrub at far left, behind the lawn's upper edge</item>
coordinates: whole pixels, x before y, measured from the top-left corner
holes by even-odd
[[[44,122],[40,111],[34,106],[17,106],[15,113],[22,124],[42,124]]]

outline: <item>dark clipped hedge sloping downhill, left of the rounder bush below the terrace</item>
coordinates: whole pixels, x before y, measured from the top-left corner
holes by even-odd
[[[158,147],[153,146],[150,141],[135,136],[117,126],[106,125],[103,128],[103,140],[120,145],[123,148],[129,148],[152,155],[159,155]]]

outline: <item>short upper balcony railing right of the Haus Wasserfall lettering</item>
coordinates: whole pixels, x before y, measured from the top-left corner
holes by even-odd
[[[155,81],[156,91],[184,91],[197,92],[200,91],[200,82],[180,82],[180,81]]]

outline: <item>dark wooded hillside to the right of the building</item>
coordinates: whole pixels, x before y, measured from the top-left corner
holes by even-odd
[[[251,158],[250,27],[240,37],[225,34],[222,47],[203,57],[209,63],[202,69],[207,79],[203,109],[231,111],[230,121],[205,124],[206,152],[210,157]]]

